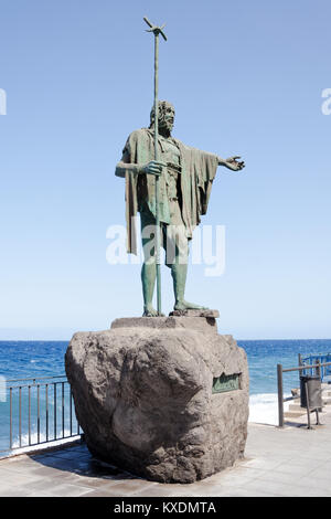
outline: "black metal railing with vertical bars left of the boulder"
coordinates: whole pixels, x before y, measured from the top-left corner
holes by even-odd
[[[0,453],[82,435],[65,375],[7,380],[4,393]]]

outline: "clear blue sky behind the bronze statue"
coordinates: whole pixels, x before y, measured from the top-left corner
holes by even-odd
[[[1,0],[0,339],[141,315],[140,266],[109,265],[106,232],[125,223],[115,166],[152,105],[143,15],[167,22],[173,135],[246,161],[218,169],[203,220],[225,225],[225,272],[193,265],[188,299],[237,339],[330,338],[330,1]]]

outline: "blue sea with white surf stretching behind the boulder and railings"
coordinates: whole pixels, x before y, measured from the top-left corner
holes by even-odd
[[[9,386],[11,380],[15,379],[43,379],[46,377],[60,377],[65,374],[64,354],[68,341],[0,341],[0,456],[1,452],[8,449],[10,422],[9,422]],[[277,364],[284,368],[295,368],[298,366],[298,354],[303,358],[319,356],[331,352],[331,339],[309,339],[309,340],[241,340],[238,346],[247,353],[249,369],[249,422],[276,425],[278,422],[277,406]],[[54,379],[56,380],[56,379]],[[62,379],[58,379],[61,381]],[[31,384],[32,382],[28,382]],[[19,382],[18,384],[23,384]],[[291,389],[298,388],[298,372],[284,373],[284,395],[289,396]],[[53,386],[52,386],[53,388]],[[23,413],[21,420],[18,416],[18,390],[12,396],[12,446],[26,446],[36,442],[36,427],[39,422],[38,441],[45,441],[45,399],[50,404],[54,404],[54,393],[45,395],[41,390],[40,409],[36,405],[36,392],[30,396],[30,413],[28,389],[22,390],[21,400]],[[62,402],[66,402],[66,413],[68,409],[68,386],[62,393],[62,384],[58,383],[56,405],[58,407],[58,419],[56,419],[54,431],[54,414],[50,411],[47,420],[51,424],[50,436],[61,437],[68,434],[70,419],[66,414],[61,422]],[[30,419],[29,419],[30,414]],[[29,422],[30,421],[30,438]],[[75,425],[73,425],[75,427]],[[19,445],[19,428],[21,432],[21,443]],[[72,432],[72,430],[71,430]],[[55,437],[55,436],[54,436]]]

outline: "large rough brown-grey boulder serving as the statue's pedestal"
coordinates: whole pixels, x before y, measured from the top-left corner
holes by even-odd
[[[246,354],[214,318],[116,319],[75,333],[65,356],[90,452],[148,479],[192,483],[243,457],[248,419]],[[239,390],[212,393],[241,373]]]

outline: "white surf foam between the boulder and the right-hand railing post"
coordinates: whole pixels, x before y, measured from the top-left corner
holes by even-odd
[[[289,395],[284,395],[285,398]],[[288,402],[284,404],[287,411]],[[259,393],[249,396],[248,422],[278,425],[278,395],[277,393]]]

